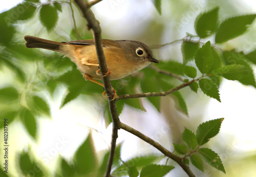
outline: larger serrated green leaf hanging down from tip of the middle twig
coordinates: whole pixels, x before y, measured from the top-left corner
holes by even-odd
[[[214,81],[210,79],[202,78],[199,80],[199,86],[204,94],[208,95],[211,98],[215,98],[219,102],[221,102],[219,90],[216,83],[214,83]]]

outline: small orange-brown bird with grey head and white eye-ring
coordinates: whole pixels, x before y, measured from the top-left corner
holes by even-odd
[[[48,49],[69,57],[86,80],[103,86],[102,83],[94,79],[101,80],[102,76],[110,74],[110,72],[104,73],[104,75],[100,74],[93,39],[70,42],[56,42],[34,36],[25,36],[24,39],[27,41],[27,48]],[[102,45],[106,65],[111,71],[111,80],[121,79],[139,71],[151,62],[159,63],[157,59],[153,58],[151,49],[139,41],[102,39]]]

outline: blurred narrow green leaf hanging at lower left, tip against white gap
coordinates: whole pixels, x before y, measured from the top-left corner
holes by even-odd
[[[29,135],[31,135],[35,139],[37,133],[36,121],[35,116],[31,112],[31,110],[24,107],[21,111],[20,118],[25,125],[25,128],[27,129]]]

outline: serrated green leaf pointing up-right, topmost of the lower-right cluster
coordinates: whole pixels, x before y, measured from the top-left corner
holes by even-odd
[[[216,136],[221,127],[224,118],[214,119],[200,124],[197,127],[197,142],[199,146],[207,143],[210,138]]]

